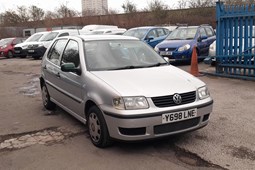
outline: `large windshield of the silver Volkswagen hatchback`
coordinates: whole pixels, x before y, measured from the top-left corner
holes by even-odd
[[[151,47],[136,40],[85,42],[89,71],[122,70],[167,65]]]

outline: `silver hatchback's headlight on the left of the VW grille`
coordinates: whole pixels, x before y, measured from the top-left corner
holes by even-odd
[[[149,104],[145,97],[118,97],[113,99],[113,106],[121,110],[148,109]]]

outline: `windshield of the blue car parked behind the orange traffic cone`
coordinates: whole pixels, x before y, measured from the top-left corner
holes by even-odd
[[[192,40],[196,33],[197,28],[178,28],[169,34],[167,40]]]

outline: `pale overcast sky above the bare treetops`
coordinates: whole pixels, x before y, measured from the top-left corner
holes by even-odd
[[[121,5],[126,0],[108,0],[108,8],[117,10],[118,12],[123,12]],[[133,2],[138,9],[143,9],[148,6],[148,3],[152,0],[130,0]],[[167,4],[171,8],[177,6],[179,0],[161,0],[164,4]],[[53,11],[59,5],[65,4],[71,9],[75,9],[81,12],[81,0],[0,0],[0,13],[5,12],[6,10],[15,10],[17,6],[26,6],[35,5],[42,9]]]

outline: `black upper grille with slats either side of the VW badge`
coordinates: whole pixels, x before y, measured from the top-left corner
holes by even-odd
[[[196,91],[182,93],[182,94],[180,94],[180,96],[182,98],[182,102],[179,105],[192,103],[196,100]],[[173,101],[173,95],[152,97],[151,99],[152,99],[154,105],[157,107],[171,107],[171,106],[178,105]]]

